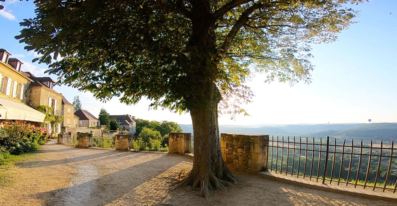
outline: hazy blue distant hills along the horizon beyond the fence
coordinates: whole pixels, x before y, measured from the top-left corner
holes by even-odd
[[[193,133],[191,124],[181,124],[183,132]],[[397,123],[371,124],[306,124],[286,126],[261,126],[253,128],[240,125],[220,125],[221,133],[270,134],[308,137],[354,137],[391,140],[397,139]]]

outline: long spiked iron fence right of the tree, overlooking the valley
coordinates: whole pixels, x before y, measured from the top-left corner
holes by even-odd
[[[342,138],[272,136],[268,169],[276,173],[396,192],[397,148],[394,141],[357,142]]]

